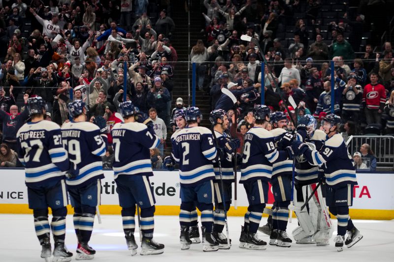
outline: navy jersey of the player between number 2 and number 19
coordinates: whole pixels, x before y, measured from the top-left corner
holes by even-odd
[[[223,134],[219,133],[218,131],[215,131],[215,136],[218,141],[219,147],[223,148],[226,145],[227,139],[229,136],[223,132]],[[234,181],[234,172],[233,172],[233,167],[232,167],[232,162],[231,162],[231,154],[224,152],[224,157],[225,159],[220,160],[220,164],[222,167],[222,178],[226,181]],[[220,180],[220,174],[219,174],[219,162],[216,161],[213,163],[213,170],[215,172],[215,179]]]

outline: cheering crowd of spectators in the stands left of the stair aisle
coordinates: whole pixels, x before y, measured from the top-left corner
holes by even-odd
[[[125,90],[154,119],[163,156],[178,59],[168,7],[148,0],[0,1],[1,166],[17,165],[16,133],[29,118],[22,100],[41,96],[47,119],[62,125],[67,104],[81,99],[88,119],[104,116],[112,128],[122,121],[117,111]],[[108,148],[103,163],[112,162]]]

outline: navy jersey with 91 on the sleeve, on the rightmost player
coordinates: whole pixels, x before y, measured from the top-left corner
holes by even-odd
[[[304,156],[309,163],[323,166],[329,186],[357,184],[354,161],[340,134],[328,138],[320,151],[307,150]]]

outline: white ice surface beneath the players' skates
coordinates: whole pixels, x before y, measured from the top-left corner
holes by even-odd
[[[51,219],[51,218],[50,218]],[[329,246],[317,247],[313,244],[295,244],[290,248],[268,246],[265,251],[245,250],[238,247],[239,234],[243,217],[230,217],[229,228],[232,247],[230,250],[202,252],[201,244],[192,245],[190,250],[181,251],[179,246],[179,222],[177,216],[156,216],[154,238],[165,244],[164,254],[155,256],[130,256],[122,230],[120,215],[101,216],[102,224],[95,220],[90,245],[96,249],[96,262],[394,262],[394,220],[354,220],[355,226],[364,235],[352,248],[337,252],[333,238]],[[261,225],[266,223],[263,218]],[[333,220],[336,229],[336,220]],[[289,223],[288,233],[296,228],[297,221]],[[66,246],[74,253],[76,237],[73,231],[72,217],[67,216]],[[34,233],[33,215],[0,215],[0,262],[43,261],[40,258],[41,247]],[[336,232],[334,232],[336,234]],[[136,231],[136,240],[139,243]],[[268,242],[268,236],[260,234]],[[139,248],[138,248],[139,253]],[[74,258],[73,258],[74,261]]]

